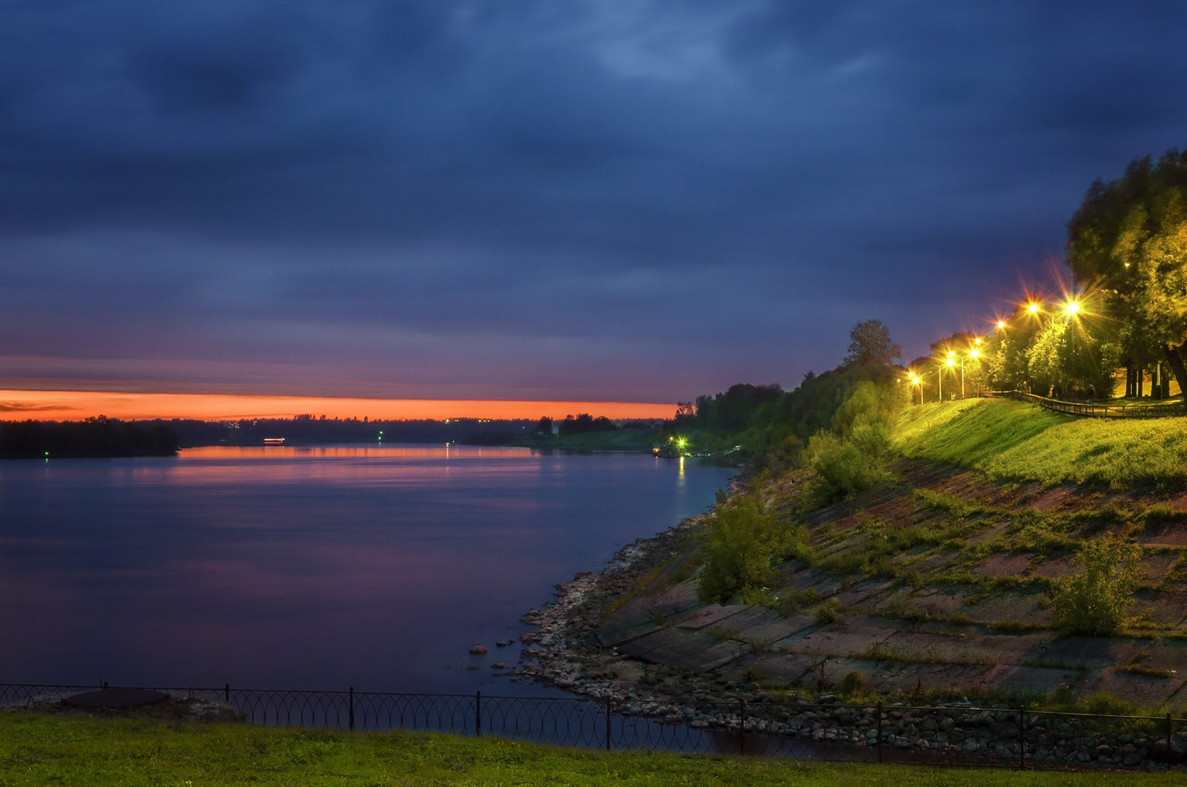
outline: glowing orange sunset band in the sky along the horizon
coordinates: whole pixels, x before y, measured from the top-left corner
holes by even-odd
[[[637,402],[532,402],[495,399],[363,399],[222,394],[123,394],[116,391],[0,390],[0,421],[81,421],[104,415],[147,418],[328,418],[399,421],[411,418],[539,418],[589,412],[608,418],[671,418],[674,404]]]

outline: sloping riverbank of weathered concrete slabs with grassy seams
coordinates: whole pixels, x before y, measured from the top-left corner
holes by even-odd
[[[703,518],[635,542],[529,616],[541,641],[526,673],[628,708],[844,695],[1182,715],[1187,498],[1002,485],[918,460],[895,471],[808,513],[811,558],[779,567],[762,606],[697,599]],[[763,494],[786,507],[794,486]],[[1065,635],[1045,599],[1074,550],[1110,532],[1143,550],[1130,623]]]

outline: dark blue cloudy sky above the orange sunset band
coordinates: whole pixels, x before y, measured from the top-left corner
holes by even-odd
[[[794,388],[867,319],[910,360],[1052,287],[1088,185],[1187,143],[1185,30],[1141,0],[0,0],[0,410],[668,405]]]

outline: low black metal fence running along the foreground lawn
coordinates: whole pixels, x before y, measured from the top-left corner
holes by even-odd
[[[106,686],[103,686],[106,687]],[[40,705],[96,686],[0,684],[0,704]],[[596,749],[664,749],[799,760],[989,764],[1017,768],[1185,768],[1187,719],[978,708],[355,691],[158,689],[222,702],[273,727],[491,735]]]

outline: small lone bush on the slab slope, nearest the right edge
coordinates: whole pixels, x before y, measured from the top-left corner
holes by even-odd
[[[1052,595],[1052,620],[1065,634],[1112,636],[1128,622],[1125,610],[1141,578],[1142,548],[1112,536],[1084,544],[1079,570],[1061,577]]]

